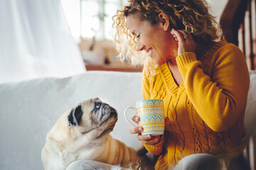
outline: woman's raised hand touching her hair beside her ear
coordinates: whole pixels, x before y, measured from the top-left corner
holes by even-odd
[[[178,55],[184,52],[196,52],[196,42],[193,37],[186,30],[171,29],[171,35],[174,36],[174,40],[178,42]]]

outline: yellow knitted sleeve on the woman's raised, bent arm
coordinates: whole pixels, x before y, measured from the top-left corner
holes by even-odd
[[[209,77],[203,73],[195,53],[176,57],[188,98],[208,127],[220,132],[230,128],[242,113],[250,78],[245,57],[235,45],[221,47],[213,60]]]

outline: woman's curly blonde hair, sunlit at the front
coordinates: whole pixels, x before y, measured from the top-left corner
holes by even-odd
[[[130,14],[154,26],[159,21],[159,13],[164,13],[169,17],[171,28],[187,30],[195,42],[205,43],[222,38],[220,27],[205,0],[129,0],[128,3],[112,17],[116,31],[114,40],[121,61],[129,61],[133,65],[150,62],[151,66],[157,67],[146,52],[138,52],[135,38],[127,28],[126,17]]]

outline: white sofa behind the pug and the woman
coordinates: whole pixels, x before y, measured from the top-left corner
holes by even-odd
[[[250,74],[254,88],[250,88],[245,123],[252,134],[256,120],[256,72]],[[142,99],[141,77],[142,73],[94,71],[63,79],[0,84],[0,169],[43,169],[41,149],[48,130],[69,108],[93,97],[101,98],[119,113],[112,136],[138,149],[141,143],[136,135],[129,134],[124,109]]]

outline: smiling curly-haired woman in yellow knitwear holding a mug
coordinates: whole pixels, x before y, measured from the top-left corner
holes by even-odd
[[[238,47],[222,39],[206,1],[132,0],[117,12],[114,28],[119,57],[144,64],[143,99],[164,100],[164,135],[130,129],[159,155],[155,169],[173,169],[178,162],[176,169],[206,169],[209,160],[213,168],[220,155],[242,151],[247,64]]]

